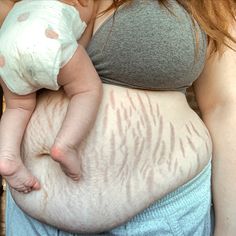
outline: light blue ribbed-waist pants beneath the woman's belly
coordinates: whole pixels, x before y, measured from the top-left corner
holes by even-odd
[[[147,208],[128,223],[92,235],[210,236],[211,164],[187,184]],[[43,224],[23,213],[7,193],[6,236],[79,236]]]

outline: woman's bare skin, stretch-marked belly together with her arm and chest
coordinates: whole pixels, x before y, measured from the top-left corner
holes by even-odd
[[[111,2],[104,0],[100,3],[101,10],[104,10]],[[103,15],[97,19],[95,29],[102,25],[107,16]],[[214,146],[213,191],[216,210],[215,235],[217,236],[231,236],[236,232],[235,68],[235,52],[227,49],[223,57],[214,54],[210,60],[207,60],[204,72],[195,83],[202,117],[211,133]],[[126,222],[157,199],[189,181],[210,160],[212,147],[208,130],[189,108],[183,94],[173,92],[154,94],[112,85],[105,86],[104,94],[95,126],[81,148],[84,178],[78,183],[60,175],[60,168],[49,158],[49,147],[63,120],[68,100],[60,92],[41,94],[35,114],[26,131],[22,156],[26,166],[40,178],[44,187],[41,191],[26,196],[12,191],[16,202],[29,215],[67,231],[108,230]],[[125,97],[124,100],[122,96]],[[134,109],[135,107],[137,109]],[[142,107],[146,108],[145,116],[138,112]],[[157,111],[157,107],[159,112],[153,113],[152,111]],[[57,108],[58,124],[52,125],[55,108]],[[158,114],[161,114],[162,119]],[[184,149],[182,149],[179,139],[175,138],[172,142],[178,145],[175,146],[171,163],[176,163],[175,169],[179,171],[166,168],[172,166],[168,155],[162,158],[156,155],[157,160],[161,162],[153,162],[151,158],[155,150],[154,140],[158,140],[160,131],[154,124],[161,120],[163,127],[169,127],[163,129],[161,138],[161,142],[167,147],[165,149],[167,154],[171,150],[170,123],[174,126],[175,137],[187,140],[190,133],[192,134],[191,140],[196,147],[196,155],[193,155],[193,150],[187,148],[189,143],[183,145]],[[40,124],[42,129],[39,133]],[[190,124],[195,126],[189,126]],[[50,136],[45,141],[44,135],[48,130]],[[194,130],[197,130],[197,133]],[[131,137],[129,143],[125,142],[124,133]],[[142,143],[140,134],[152,137],[146,140],[141,150],[138,149],[139,144]],[[31,137],[35,139],[32,140]],[[125,152],[127,149],[129,158]],[[139,158],[135,158],[137,150],[140,150]],[[206,152],[200,154],[203,150]],[[196,162],[197,154],[200,155],[200,162]],[[142,177],[139,178],[137,173],[141,173]],[[62,188],[64,191],[61,191]],[[68,209],[68,206],[73,208]]]

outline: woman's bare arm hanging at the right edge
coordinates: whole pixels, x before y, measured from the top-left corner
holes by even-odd
[[[212,55],[194,87],[213,140],[215,235],[235,235],[236,52],[227,48]]]

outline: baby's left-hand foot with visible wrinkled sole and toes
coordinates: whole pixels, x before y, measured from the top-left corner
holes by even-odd
[[[0,174],[10,187],[18,192],[29,193],[40,189],[39,181],[26,169],[21,160],[1,157]]]

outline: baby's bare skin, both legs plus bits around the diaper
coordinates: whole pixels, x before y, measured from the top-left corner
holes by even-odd
[[[86,6],[76,2],[81,12],[85,10],[81,14],[84,20],[91,19],[93,1],[87,1],[89,4]],[[4,6],[6,15],[12,4]],[[4,58],[0,64],[4,66]],[[26,169],[20,157],[21,140],[35,109],[36,94],[20,96],[12,93],[2,80],[0,83],[6,98],[6,111],[0,124],[0,174],[19,192],[38,190],[38,179]],[[64,173],[78,181],[81,175],[78,147],[94,123],[102,95],[100,79],[82,46],[78,46],[74,56],[60,70],[58,83],[70,98],[70,104],[50,153]]]

